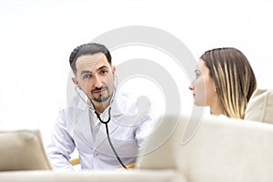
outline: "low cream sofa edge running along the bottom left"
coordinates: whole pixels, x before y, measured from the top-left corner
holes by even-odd
[[[86,170],[71,171],[15,171],[0,172],[5,182],[187,182],[174,170]]]

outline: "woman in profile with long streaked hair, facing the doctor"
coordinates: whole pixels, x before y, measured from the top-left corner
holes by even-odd
[[[189,86],[196,106],[212,115],[244,118],[257,82],[248,59],[236,48],[208,50],[199,59],[196,79]]]

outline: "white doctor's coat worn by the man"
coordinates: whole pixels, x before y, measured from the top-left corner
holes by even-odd
[[[121,94],[115,96],[110,105],[109,135],[117,155],[125,165],[136,161],[141,143],[154,123],[148,109],[150,105],[139,109],[137,104],[139,103]],[[103,120],[108,119],[110,106],[100,115]],[[73,170],[69,159],[75,148],[82,169],[121,167],[108,143],[105,124],[100,124],[96,139],[93,138],[90,124],[96,119],[94,111],[79,96],[76,96],[70,106],[60,110],[51,143],[46,148],[54,168]]]

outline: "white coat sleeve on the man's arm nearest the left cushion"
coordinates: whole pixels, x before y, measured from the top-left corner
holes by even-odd
[[[70,155],[75,149],[75,142],[69,134],[70,117],[66,116],[66,111],[61,110],[58,114],[56,126],[53,129],[50,143],[46,147],[47,156],[50,160],[52,167],[57,170],[73,170],[72,165],[69,163]]]

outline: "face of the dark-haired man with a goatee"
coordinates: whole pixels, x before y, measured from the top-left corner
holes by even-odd
[[[113,95],[115,70],[103,53],[80,56],[76,60],[73,81],[94,104],[104,103]]]

